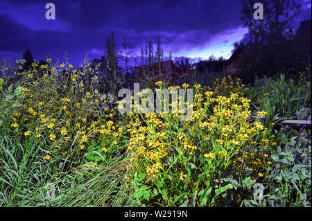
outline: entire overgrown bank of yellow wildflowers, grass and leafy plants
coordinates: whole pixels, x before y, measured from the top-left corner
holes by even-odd
[[[0,78],[1,206],[311,206],[311,127],[274,121],[311,118],[310,67],[251,88],[184,83],[182,121],[181,109],[121,115],[87,61],[22,64]]]

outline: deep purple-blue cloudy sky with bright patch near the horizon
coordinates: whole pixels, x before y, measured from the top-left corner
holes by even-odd
[[[302,12],[295,26],[311,19],[311,0],[296,1]],[[55,4],[55,20],[45,18],[49,2]],[[86,54],[89,61],[101,58],[114,30],[120,48],[123,35],[134,44],[134,55],[150,39],[156,43],[159,34],[165,55],[229,58],[233,43],[247,33],[239,9],[236,0],[0,0],[0,57],[15,58],[29,49],[37,60],[49,53],[62,62],[67,51],[80,64]]]

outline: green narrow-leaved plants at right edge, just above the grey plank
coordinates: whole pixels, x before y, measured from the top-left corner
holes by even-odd
[[[252,99],[254,109],[267,112],[267,127],[277,123],[277,117],[306,120],[309,115],[300,116],[300,111],[311,107],[310,67],[300,74],[297,83],[292,79],[286,80],[284,75],[277,80],[262,78],[256,80],[255,87],[245,90],[245,94]]]

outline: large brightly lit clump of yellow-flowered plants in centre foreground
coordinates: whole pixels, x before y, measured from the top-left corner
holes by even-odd
[[[139,195],[148,206],[179,206],[185,200],[193,206],[224,204],[224,193],[234,188],[225,182],[229,175],[245,178],[239,168],[254,177],[264,173],[261,156],[272,144],[261,122],[248,122],[249,100],[195,87],[190,121],[180,121],[177,113],[128,114],[128,179],[149,191]]]

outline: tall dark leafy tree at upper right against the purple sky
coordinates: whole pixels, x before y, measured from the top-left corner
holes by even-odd
[[[257,0],[241,1],[242,26],[249,33],[235,45],[243,52],[234,62],[239,77],[251,84],[256,76],[274,76],[293,68],[296,50],[290,39],[295,35],[294,19],[300,13],[300,5],[293,0],[263,0],[263,19],[254,19],[254,3]]]

